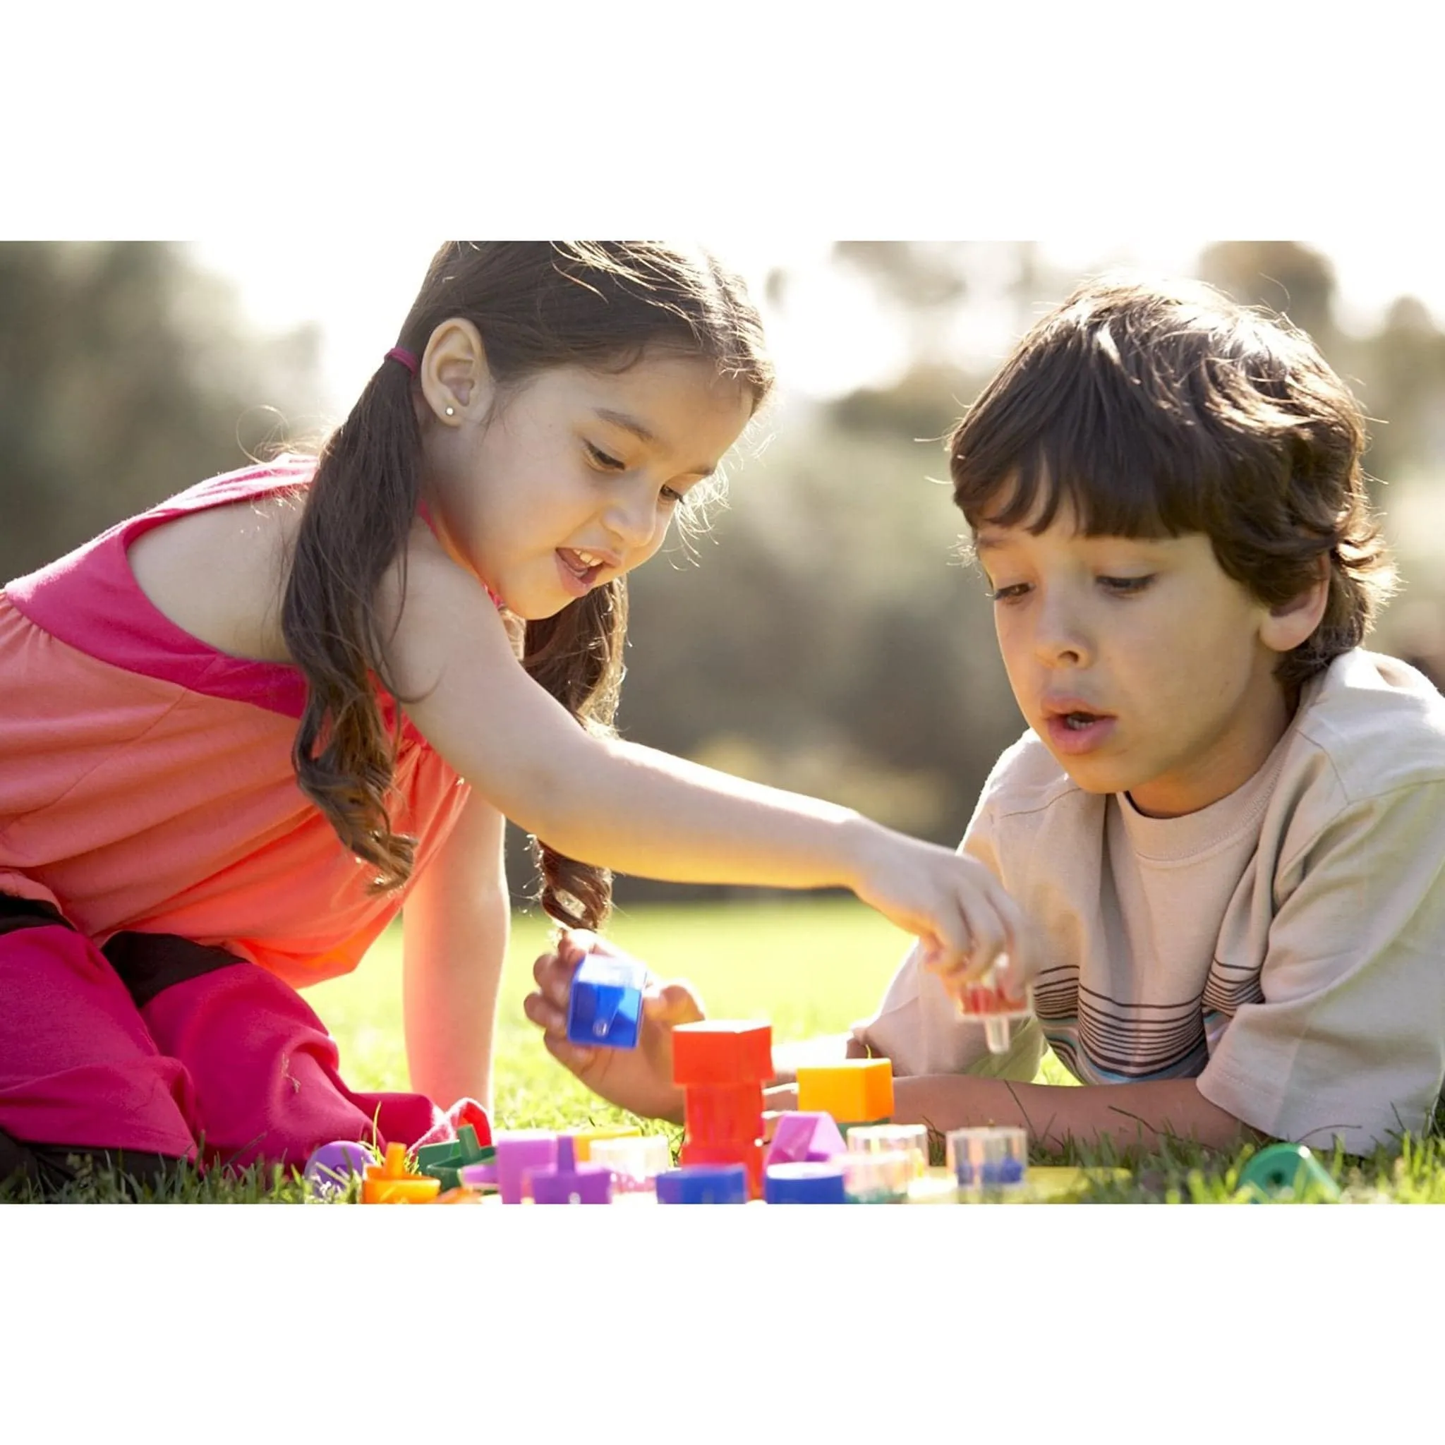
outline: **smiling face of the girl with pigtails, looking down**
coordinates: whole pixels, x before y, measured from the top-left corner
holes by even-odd
[[[714,363],[663,351],[488,389],[429,436],[428,501],[457,561],[526,620],[646,562],[753,412]]]

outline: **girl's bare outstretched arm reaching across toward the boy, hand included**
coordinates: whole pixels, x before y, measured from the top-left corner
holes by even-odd
[[[816,798],[590,736],[517,665],[477,579],[425,545],[410,549],[387,660],[442,757],[561,853],[678,883],[848,887],[919,936],[945,980],[1000,954],[1009,981],[1026,971],[1017,910],[977,860]]]

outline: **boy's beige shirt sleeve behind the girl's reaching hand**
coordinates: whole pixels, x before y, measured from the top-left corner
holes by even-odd
[[[998,876],[987,790],[958,851],[978,858]],[[1043,1030],[1038,1020],[1029,1019],[1013,1029],[1006,1053],[990,1053],[983,1023],[958,1016],[938,974],[919,961],[920,954],[918,946],[907,952],[877,1012],[854,1026],[854,1039],[871,1053],[892,1059],[894,1075],[977,1074],[1033,1079],[1043,1058]]]

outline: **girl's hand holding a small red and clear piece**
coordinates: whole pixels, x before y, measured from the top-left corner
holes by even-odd
[[[1036,967],[1023,915],[977,858],[879,828],[854,892],[919,939],[922,962],[955,997],[994,968],[1001,993],[1023,996]]]

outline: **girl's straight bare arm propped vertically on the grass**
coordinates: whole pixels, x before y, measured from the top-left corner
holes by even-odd
[[[402,912],[402,990],[412,1088],[448,1108],[491,1108],[491,1036],[510,899],[501,814],[473,793],[418,874]]]

